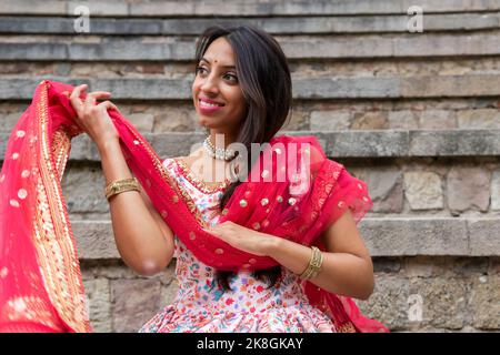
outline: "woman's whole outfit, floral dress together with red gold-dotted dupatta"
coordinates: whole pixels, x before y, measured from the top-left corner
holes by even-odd
[[[82,133],[64,91],[72,87],[42,81],[8,142],[0,174],[0,332],[92,331],[60,185],[71,139]],[[221,191],[210,195],[190,190],[189,174],[176,172],[180,165],[174,160],[160,159],[119,112],[109,114],[129,168],[176,235],[178,297],[141,331],[388,331],[362,316],[350,297],[321,290],[283,267],[280,286],[264,292],[267,284],[259,284],[251,272],[277,262],[237,250],[203,230],[232,221],[324,251],[321,233],[348,209],[358,222],[372,203],[364,182],[328,160],[314,138],[271,140],[250,170],[253,178],[218,213]],[[298,162],[299,173],[288,170],[286,156]],[[236,294],[218,293],[214,270],[238,274],[230,283]]]

